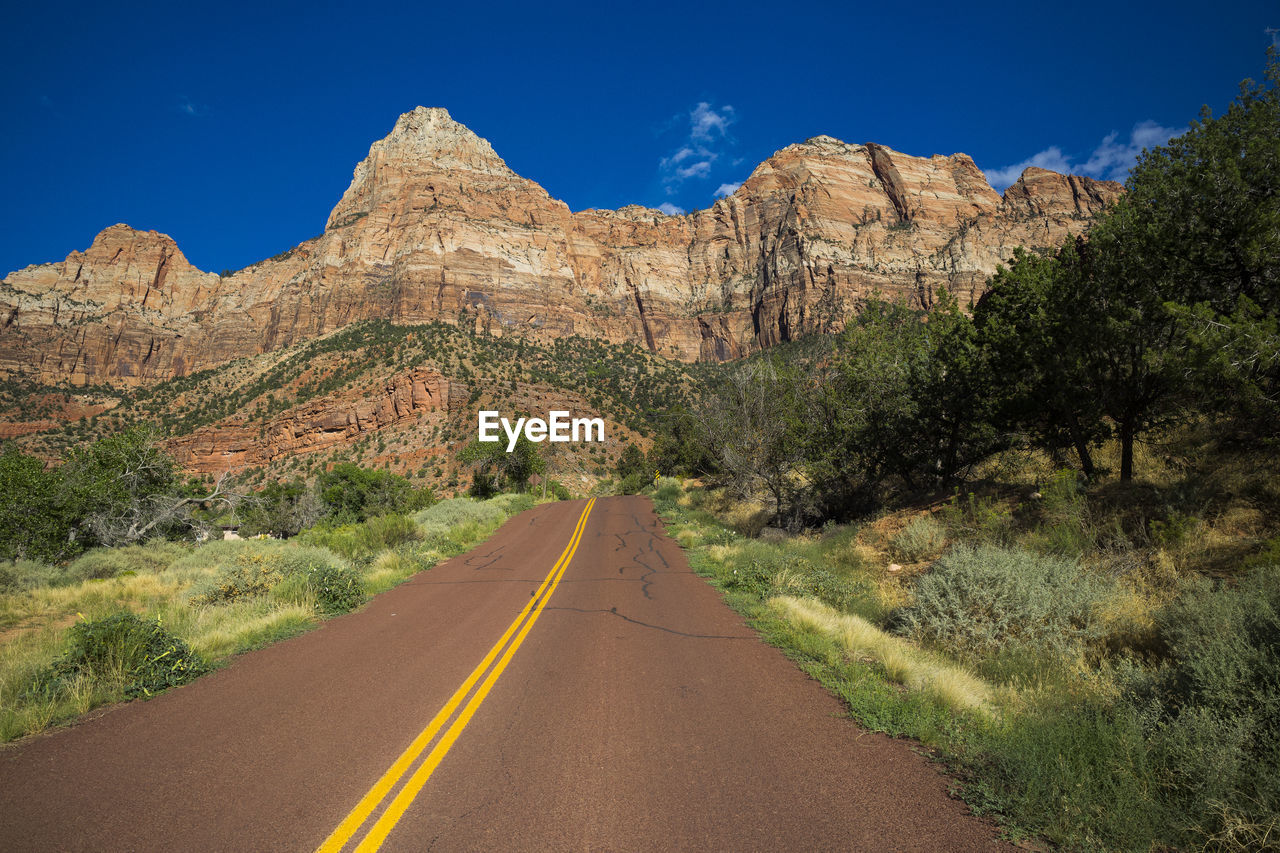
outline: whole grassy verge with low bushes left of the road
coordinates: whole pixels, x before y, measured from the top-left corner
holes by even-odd
[[[97,548],[0,575],[0,742],[148,695],[460,555],[530,496],[442,501],[289,540]]]

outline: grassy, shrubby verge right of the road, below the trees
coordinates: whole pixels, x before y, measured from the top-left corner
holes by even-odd
[[[1066,484],[1041,500],[1034,524],[968,500],[890,529],[762,540],[742,535],[758,525],[723,496],[676,480],[654,493],[731,607],[860,725],[946,762],[1007,838],[1106,850],[1280,843],[1280,570],[1211,585],[1156,547],[1119,573],[1133,551],[1082,544],[1111,524],[1100,507]]]

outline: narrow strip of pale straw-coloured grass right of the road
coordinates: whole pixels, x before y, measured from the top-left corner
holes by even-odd
[[[835,639],[849,657],[879,663],[891,681],[931,694],[955,710],[993,712],[993,692],[982,679],[886,634],[860,616],[794,596],[777,596],[768,603],[787,621]]]

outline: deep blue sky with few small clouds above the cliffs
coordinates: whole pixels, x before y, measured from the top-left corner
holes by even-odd
[[[705,207],[826,133],[1123,177],[1262,76],[1275,3],[9,4],[0,274],[124,222],[219,272],[444,106],[572,209]]]

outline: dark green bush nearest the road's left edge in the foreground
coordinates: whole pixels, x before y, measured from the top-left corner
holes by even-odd
[[[69,680],[118,680],[129,697],[151,695],[207,671],[205,661],[160,620],[143,621],[124,611],[68,629],[67,652],[32,684],[31,693],[52,695]]]

